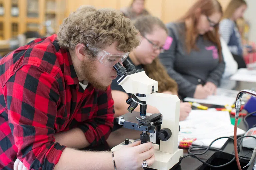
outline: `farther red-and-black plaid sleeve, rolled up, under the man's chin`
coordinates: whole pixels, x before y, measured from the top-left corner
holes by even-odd
[[[91,146],[100,145],[105,142],[113,128],[114,101],[111,96],[111,88],[106,92],[99,91],[95,114],[79,125],[85,133],[86,139]]]

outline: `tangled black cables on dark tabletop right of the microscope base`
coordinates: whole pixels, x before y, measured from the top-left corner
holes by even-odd
[[[253,114],[253,113],[252,113],[252,114]],[[237,141],[240,140],[240,139],[242,139],[242,138],[244,138],[244,137],[253,137],[253,138],[256,139],[256,137],[254,137],[254,136],[241,136],[241,137],[237,138]],[[206,146],[193,146],[193,147],[190,147],[190,148],[188,149],[188,154],[185,155],[185,156],[183,156],[183,157],[181,157],[180,160],[181,160],[181,159],[184,159],[184,158],[187,157],[187,156],[192,156],[192,157],[198,159],[198,160],[199,160],[200,162],[202,162],[203,164],[205,164],[205,165],[207,165],[207,166],[209,166],[209,167],[211,167],[211,168],[220,168],[220,167],[224,167],[224,166],[226,166],[226,165],[232,163],[232,162],[235,160],[234,151],[233,151],[232,153],[228,153],[228,152],[224,152],[223,150],[220,150],[220,149],[217,149],[217,148],[210,148],[211,145],[212,145],[216,140],[223,139],[223,138],[229,138],[229,139],[231,139],[231,140],[234,140],[234,138],[232,138],[232,137],[230,137],[230,136],[224,136],[224,137],[219,137],[219,138],[217,138],[217,139],[214,139],[214,140],[210,143],[210,145],[209,145],[208,147],[206,147]],[[241,144],[242,144],[242,140],[239,142],[239,144],[237,144],[238,153],[240,152],[240,145],[241,145]],[[195,149],[195,148],[200,148],[200,149]],[[193,152],[192,152],[192,151],[194,151],[193,149],[194,149],[194,150],[197,150],[197,151],[198,151],[198,150],[205,150],[205,151],[204,151],[204,152],[201,152],[201,153],[193,153]],[[199,157],[197,157],[197,155],[203,155],[203,154],[205,154],[208,150],[218,151],[218,152],[221,152],[221,153],[225,153],[225,154],[232,155],[232,156],[234,156],[234,157],[233,157],[233,159],[232,159],[231,161],[229,161],[229,162],[227,162],[227,163],[225,163],[225,164],[223,164],[223,165],[217,165],[217,166],[211,165],[211,164],[209,164],[209,163],[206,163],[205,161],[203,161],[203,160],[200,159]],[[252,152],[252,151],[253,151],[253,150],[251,150],[250,152]],[[250,152],[248,152],[246,155],[248,155]],[[244,156],[239,156],[239,157],[240,157],[240,160],[241,160],[241,159],[243,159],[243,160],[250,160],[250,158],[244,158],[246,155],[244,155]]]

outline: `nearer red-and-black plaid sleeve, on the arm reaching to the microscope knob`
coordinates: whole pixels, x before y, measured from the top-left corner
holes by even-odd
[[[28,169],[53,169],[65,148],[53,137],[58,88],[55,77],[34,65],[22,66],[3,87],[17,158]]]

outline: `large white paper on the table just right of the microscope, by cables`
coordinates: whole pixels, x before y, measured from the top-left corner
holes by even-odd
[[[194,145],[209,146],[218,137],[233,136],[234,126],[230,122],[229,112],[192,110],[185,121],[181,121],[179,141],[183,138],[197,138]],[[245,131],[237,128],[237,135]],[[220,139],[212,147],[221,148],[227,138]]]

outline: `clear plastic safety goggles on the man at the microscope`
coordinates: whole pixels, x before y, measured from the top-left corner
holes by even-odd
[[[116,63],[123,62],[129,55],[129,52],[110,54],[102,49],[90,47],[88,44],[86,44],[86,46],[93,53],[93,55],[97,57],[100,63],[106,67],[113,67]]]

